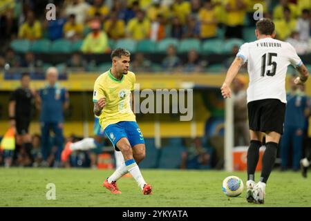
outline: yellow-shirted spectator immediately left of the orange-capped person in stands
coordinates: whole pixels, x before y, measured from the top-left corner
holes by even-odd
[[[83,25],[82,23],[75,22],[75,14],[69,15],[63,31],[66,39],[75,41],[77,39],[82,39],[83,37]]]

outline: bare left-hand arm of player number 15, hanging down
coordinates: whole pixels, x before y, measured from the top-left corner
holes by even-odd
[[[241,66],[244,64],[242,57],[236,57],[232,62],[229,70],[227,71],[227,76],[225,81],[223,82],[223,86],[221,86],[221,94],[224,98],[231,97],[231,89],[230,84],[232,83],[234,77],[238,74],[238,70],[240,70]]]

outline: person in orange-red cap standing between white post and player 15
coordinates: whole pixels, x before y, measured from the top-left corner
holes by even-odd
[[[244,88],[246,79],[238,75],[232,81],[234,94],[234,146],[249,146],[249,128],[247,124],[247,99]]]

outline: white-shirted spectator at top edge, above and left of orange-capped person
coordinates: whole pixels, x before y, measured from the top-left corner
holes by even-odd
[[[75,15],[77,23],[84,23],[90,6],[84,0],[66,0],[65,1],[66,16]]]

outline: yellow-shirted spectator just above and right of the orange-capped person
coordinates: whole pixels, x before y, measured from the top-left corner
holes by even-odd
[[[117,40],[125,36],[125,23],[117,17],[117,11],[112,11],[109,19],[104,23],[104,31],[109,39]]]

